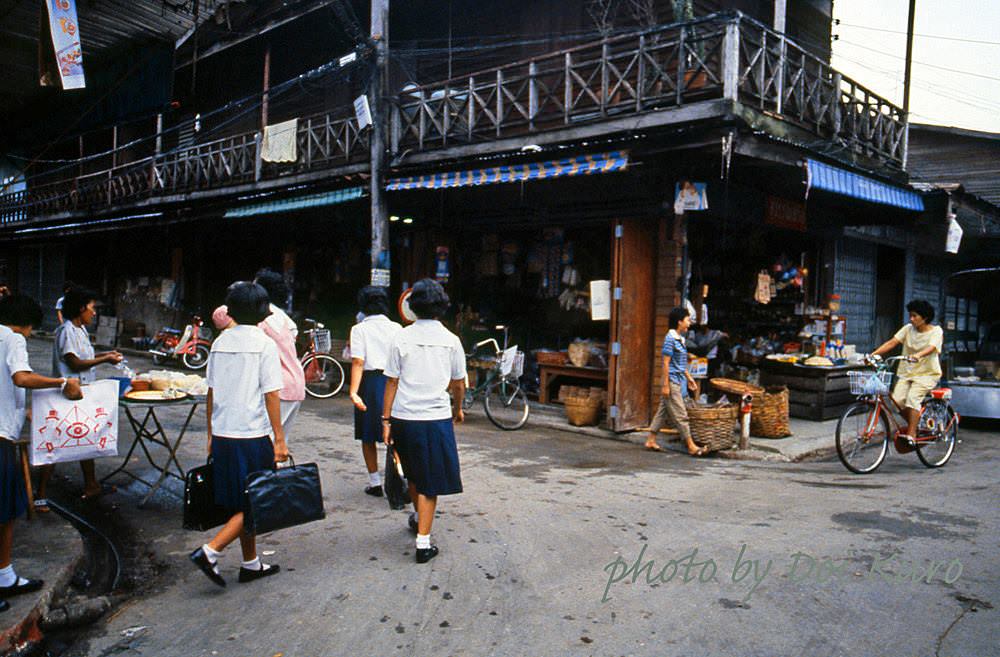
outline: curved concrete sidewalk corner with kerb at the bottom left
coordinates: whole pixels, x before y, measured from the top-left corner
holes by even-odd
[[[7,598],[0,614],[0,654],[20,654],[42,638],[39,623],[84,559],[83,539],[58,513],[39,513],[14,525],[13,564],[21,577],[45,580],[40,591]]]

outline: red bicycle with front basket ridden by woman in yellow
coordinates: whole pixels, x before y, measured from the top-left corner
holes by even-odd
[[[889,394],[892,383],[891,363],[904,360],[894,356],[884,361],[866,359],[875,370],[848,372],[851,393],[858,395],[837,422],[837,456],[844,466],[856,474],[874,472],[885,460],[889,441],[906,440],[906,447],[928,468],[939,468],[948,462],[958,439],[959,415],[951,407],[951,390],[935,388],[920,405],[920,421],[915,439],[904,438],[906,422],[902,408]],[[897,451],[905,452],[897,445]]]

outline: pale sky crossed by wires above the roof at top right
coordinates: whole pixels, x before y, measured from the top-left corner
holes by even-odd
[[[916,0],[916,123],[1000,133],[1000,2]],[[903,104],[908,0],[834,0],[833,65]]]

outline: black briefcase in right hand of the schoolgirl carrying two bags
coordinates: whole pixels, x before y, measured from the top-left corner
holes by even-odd
[[[295,465],[292,461],[287,468],[251,472],[245,493],[243,525],[247,532],[266,534],[326,517],[315,463]]]

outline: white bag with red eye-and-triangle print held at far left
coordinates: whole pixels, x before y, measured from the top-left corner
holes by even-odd
[[[118,382],[83,386],[83,399],[59,390],[31,394],[31,464],[118,455]]]

